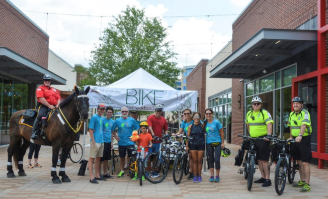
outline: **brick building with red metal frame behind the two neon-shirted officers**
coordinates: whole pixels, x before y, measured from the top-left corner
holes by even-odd
[[[245,115],[255,96],[273,116],[273,134],[288,138],[291,100],[300,96],[312,117],[313,162],[323,168],[328,160],[326,7],[326,0],[251,0],[234,21],[233,53],[210,72],[212,78],[233,78],[233,143],[240,144],[237,135],[246,134]]]

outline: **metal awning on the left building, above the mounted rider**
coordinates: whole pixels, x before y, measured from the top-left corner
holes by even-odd
[[[53,85],[66,85],[64,78],[3,47],[0,47],[0,73],[35,84],[43,84],[42,77],[49,74]]]

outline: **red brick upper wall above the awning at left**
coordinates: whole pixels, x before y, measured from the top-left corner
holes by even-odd
[[[6,0],[0,0],[0,47],[48,69],[49,37]]]

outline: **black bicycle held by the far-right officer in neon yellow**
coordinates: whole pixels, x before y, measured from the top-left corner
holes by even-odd
[[[296,171],[299,169],[298,164],[295,160],[292,160],[291,144],[294,143],[295,139],[291,140],[280,140],[278,138],[269,138],[279,145],[278,148],[278,162],[276,165],[276,171],[274,175],[274,188],[278,195],[282,195],[285,190],[286,177],[288,182],[292,184],[294,182]],[[274,155],[274,154],[273,154]]]

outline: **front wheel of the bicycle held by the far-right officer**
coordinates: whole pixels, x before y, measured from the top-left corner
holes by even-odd
[[[287,165],[285,158],[279,158],[276,165],[276,172],[274,175],[274,188],[278,195],[282,195],[286,185],[286,173]]]

